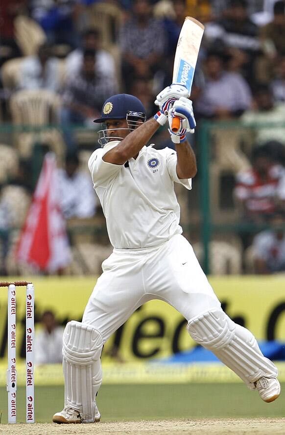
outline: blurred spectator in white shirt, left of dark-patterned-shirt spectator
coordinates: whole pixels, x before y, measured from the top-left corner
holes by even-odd
[[[59,62],[51,56],[48,44],[42,44],[37,55],[26,57],[21,64],[19,88],[57,92],[60,87]]]

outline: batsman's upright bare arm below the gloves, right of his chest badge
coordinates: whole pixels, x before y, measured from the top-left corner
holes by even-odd
[[[188,141],[176,144],[176,173],[179,179],[195,177],[197,173],[196,157]]]

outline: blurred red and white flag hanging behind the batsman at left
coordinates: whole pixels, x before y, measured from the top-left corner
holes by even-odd
[[[17,249],[17,259],[55,272],[70,262],[70,248],[61,212],[55,155],[45,156]]]

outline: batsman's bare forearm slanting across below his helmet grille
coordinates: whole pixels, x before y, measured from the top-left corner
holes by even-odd
[[[117,147],[104,154],[103,160],[116,165],[123,165],[131,157],[135,157],[149,141],[160,125],[151,118],[128,134]]]

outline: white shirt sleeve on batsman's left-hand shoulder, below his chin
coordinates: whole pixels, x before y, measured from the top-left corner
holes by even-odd
[[[112,141],[105,145],[104,148],[99,148],[91,154],[88,160],[88,168],[91,172],[94,188],[107,187],[109,182],[119,174],[121,168],[124,166],[115,165],[114,163],[108,163],[103,160],[103,155],[118,144],[119,141]]]

